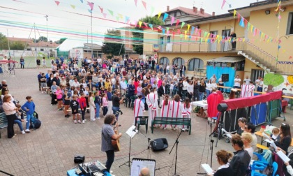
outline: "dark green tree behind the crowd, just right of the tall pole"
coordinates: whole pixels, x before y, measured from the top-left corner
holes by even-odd
[[[102,52],[112,56],[118,56],[119,54],[124,54],[124,51],[120,31],[107,29],[107,34],[105,35],[102,46]]]

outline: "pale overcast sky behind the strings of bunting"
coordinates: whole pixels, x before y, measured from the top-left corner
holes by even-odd
[[[0,33],[9,37],[35,38],[33,24],[36,24],[36,38],[48,36],[52,41],[59,38],[72,38],[80,41],[87,41],[87,32],[91,34],[91,13],[90,6],[86,0],[59,0],[59,5],[54,0],[0,0]],[[83,2],[82,2],[83,1]],[[170,9],[177,6],[186,8],[204,8],[206,13],[216,12],[216,15],[227,13],[227,10],[249,6],[249,3],[256,0],[227,0],[221,9],[222,0],[91,0],[93,2],[92,27],[95,43],[103,41],[103,34],[107,29],[124,27],[128,24],[125,17],[130,17],[130,22],[138,20],[146,15],[156,15],[164,12],[167,6]],[[231,5],[231,8],[229,7]],[[103,8],[101,13],[100,8]],[[113,12],[113,16],[110,14]],[[46,22],[45,15],[48,15]],[[105,15],[105,17],[104,17]],[[119,22],[117,22],[119,20]],[[32,32],[31,32],[32,31]],[[90,38],[89,38],[90,41]]]

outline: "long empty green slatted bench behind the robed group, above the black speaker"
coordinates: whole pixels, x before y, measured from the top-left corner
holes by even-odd
[[[151,121],[151,133],[153,133],[153,126],[156,124],[167,124],[167,125],[184,125],[188,126],[189,135],[191,133],[191,119],[188,118],[176,118],[176,117],[155,117]]]

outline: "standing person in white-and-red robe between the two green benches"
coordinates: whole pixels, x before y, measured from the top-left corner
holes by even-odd
[[[158,96],[153,92],[147,95],[147,105],[149,106],[149,126],[151,126],[154,117],[158,116]]]

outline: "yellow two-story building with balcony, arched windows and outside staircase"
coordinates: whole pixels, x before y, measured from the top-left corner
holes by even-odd
[[[293,50],[290,50],[293,38],[289,37],[293,34],[293,1],[281,1],[281,17],[275,13],[277,2],[250,3],[250,6],[235,9],[235,15],[234,9],[222,15],[205,15],[204,10],[199,10],[197,13],[201,16],[180,20],[178,26],[165,20],[163,28],[168,27],[171,32],[163,34],[160,30],[147,29],[144,54],[158,54],[159,64],[184,64],[186,75],[190,76],[210,78],[215,73],[220,78],[221,74],[227,73],[232,77],[227,82],[230,86],[234,84],[235,75],[240,75],[241,80],[248,76],[255,81],[258,76],[264,77],[265,73],[293,74]],[[176,19],[180,19],[179,14],[186,15],[181,8],[175,9]],[[174,17],[172,10],[165,13]],[[244,27],[239,25],[241,17],[247,20]],[[185,22],[183,28],[182,22]],[[187,29],[187,24],[190,29],[195,27],[193,34]],[[258,29],[257,34],[251,26]],[[188,31],[187,35],[185,31]],[[266,35],[262,39],[260,31]],[[235,50],[232,50],[233,40],[229,37],[232,32],[236,34]],[[159,50],[155,52],[154,47],[158,45]],[[286,82],[287,77],[284,79]]]

